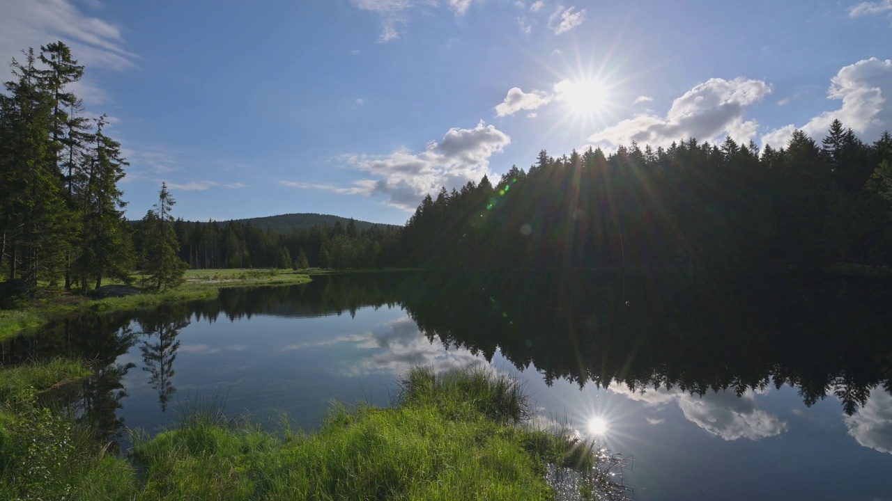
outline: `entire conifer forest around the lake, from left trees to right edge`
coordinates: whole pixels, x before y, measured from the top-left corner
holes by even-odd
[[[127,160],[105,117],[68,91],[83,76],[57,42],[23,52],[0,97],[0,271],[29,288],[127,280],[162,289],[186,265],[224,267],[823,267],[892,261],[892,136],[865,143],[835,120],[780,149],[680,140],[668,148],[542,150],[460,190],[426,196],[402,228],[175,219],[161,186],[124,216]],[[159,272],[159,269],[167,270]],[[169,276],[167,276],[169,275]]]

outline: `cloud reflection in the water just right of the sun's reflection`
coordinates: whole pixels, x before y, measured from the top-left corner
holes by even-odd
[[[787,431],[786,422],[756,406],[756,393],[752,390],[748,390],[740,397],[733,392],[722,391],[706,393],[700,398],[677,388],[673,390],[660,388],[639,393],[629,390],[622,384],[614,383],[609,389],[648,406],[662,405],[674,400],[678,402],[685,419],[725,440],[760,440]],[[648,423],[657,424],[657,420],[648,418]]]

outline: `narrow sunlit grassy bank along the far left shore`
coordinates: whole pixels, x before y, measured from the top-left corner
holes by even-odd
[[[142,283],[134,276],[134,284]],[[220,288],[260,285],[293,285],[310,282],[307,272],[275,269],[188,270],[186,283],[175,290],[141,292],[120,298],[93,299],[87,296],[42,290],[39,297],[16,301],[10,308],[0,309],[0,341],[12,338],[21,331],[39,327],[51,319],[86,311],[113,311],[152,308],[166,302],[211,300]]]

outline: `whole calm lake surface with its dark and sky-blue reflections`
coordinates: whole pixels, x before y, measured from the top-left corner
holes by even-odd
[[[84,316],[4,343],[99,371],[56,398],[121,434],[197,397],[274,429],[387,405],[410,365],[519,374],[633,456],[636,499],[892,500],[892,283],[843,276],[337,275]]]

